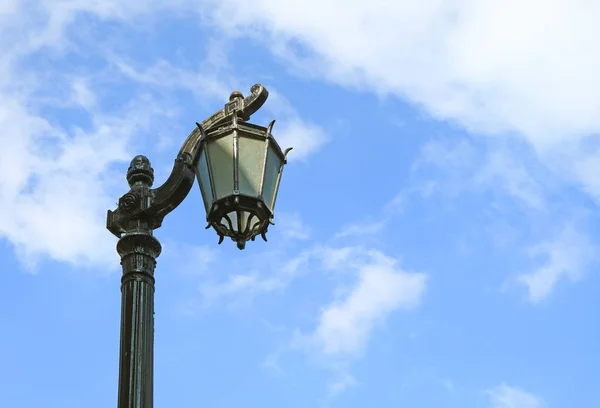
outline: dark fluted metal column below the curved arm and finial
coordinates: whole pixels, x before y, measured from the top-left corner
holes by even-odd
[[[152,408],[154,376],[154,268],[161,247],[150,229],[123,235],[118,408]]]

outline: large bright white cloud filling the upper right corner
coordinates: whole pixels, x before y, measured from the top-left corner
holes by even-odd
[[[600,51],[595,44],[600,3],[203,4],[212,24],[230,35],[263,41],[294,73],[395,95],[476,133],[524,136],[555,177],[574,179],[600,197],[597,149],[581,148],[600,132]],[[542,206],[535,185],[518,168],[511,172],[521,181],[509,182],[510,193]]]

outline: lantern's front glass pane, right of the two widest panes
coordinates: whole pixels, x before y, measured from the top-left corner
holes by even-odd
[[[260,182],[262,180],[263,164],[265,162],[265,143],[263,139],[256,139],[241,135],[239,140],[238,180],[241,194],[258,197]]]

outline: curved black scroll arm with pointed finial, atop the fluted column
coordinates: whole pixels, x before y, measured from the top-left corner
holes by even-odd
[[[219,124],[237,115],[246,121],[265,103],[269,96],[267,89],[256,84],[250,88],[251,94],[244,98],[241,92],[233,92],[225,107],[214,113],[197,127],[183,142],[175,159],[173,170],[160,187],[151,189],[154,170],[144,156],[136,156],[127,171],[131,190],[119,199],[115,211],[108,210],[106,227],[117,237],[121,234],[143,229],[157,229],[164,217],[173,211],[187,197],[195,180],[194,163],[198,156],[200,140]],[[141,226],[140,222],[144,225]]]

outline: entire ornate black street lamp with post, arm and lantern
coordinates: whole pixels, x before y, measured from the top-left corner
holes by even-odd
[[[118,408],[152,408],[154,361],[154,268],[161,246],[153,236],[164,217],[187,196],[198,179],[206,228],[219,244],[225,237],[244,249],[266,233],[281,173],[286,163],[268,127],[247,121],[266,101],[267,90],[254,85],[244,98],[233,92],[225,107],[196,128],[183,143],[171,175],[152,189],[154,171],[145,156],[127,170],[130,190],[108,211],[107,228],[119,238],[121,256],[121,340]]]

